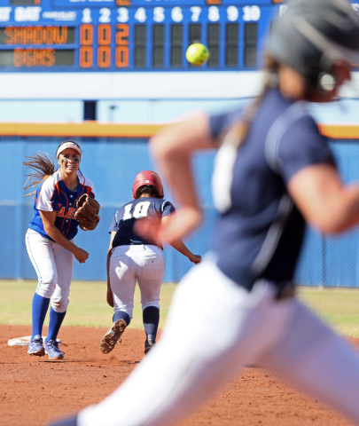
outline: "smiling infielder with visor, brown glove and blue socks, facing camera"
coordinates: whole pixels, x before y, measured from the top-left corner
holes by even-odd
[[[81,147],[66,141],[58,147],[59,170],[44,155],[30,157],[25,165],[35,173],[26,188],[38,185],[34,214],[26,234],[27,253],[34,265],[38,285],[33,298],[33,331],[27,353],[49,359],[63,359],[57,336],[66,315],[74,257],[83,264],[89,254],[74,244],[78,222],[74,218],[76,200],[88,193],[95,198],[95,188],[80,171]],[[25,189],[26,189],[25,188]],[[49,331],[43,344],[43,321],[51,299]]]

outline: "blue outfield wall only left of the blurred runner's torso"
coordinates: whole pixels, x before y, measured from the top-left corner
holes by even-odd
[[[95,185],[96,197],[101,204],[100,223],[93,232],[79,233],[76,244],[86,249],[90,257],[85,264],[74,263],[74,280],[105,280],[105,260],[110,241],[109,226],[117,209],[132,200],[134,179],[142,170],[155,170],[147,138],[73,138],[82,146],[82,173]],[[29,169],[22,165],[34,153],[47,153],[55,158],[57,147],[64,138],[0,138],[0,278],[36,279],[25,246],[25,233],[34,209],[34,197],[24,197],[22,191]],[[194,160],[199,196],[204,209],[204,223],[185,240],[195,254],[203,255],[212,246],[212,234],[217,214],[213,209],[207,180],[213,165],[213,154],[202,154]],[[165,198],[176,206],[168,191]],[[185,191],[185,188],[183,188]],[[27,190],[27,193],[31,192]],[[174,248],[165,247],[165,281],[178,281],[191,268],[191,262]]]

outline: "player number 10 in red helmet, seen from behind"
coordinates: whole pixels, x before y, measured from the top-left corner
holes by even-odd
[[[107,256],[107,303],[113,307],[113,327],[104,335],[100,350],[113,351],[132,319],[136,281],[141,291],[144,319],[144,353],[156,342],[160,321],[160,286],[165,274],[162,242],[153,240],[150,233],[138,234],[136,226],[168,223],[175,208],[164,200],[160,176],[144,170],[135,178],[133,201],[121,207],[113,217],[109,232],[110,247]],[[141,219],[145,219],[142,220]],[[146,223],[145,223],[146,222]],[[147,227],[147,226],[146,226]],[[172,241],[172,246],[191,262],[198,264],[201,257],[193,255],[183,241]]]

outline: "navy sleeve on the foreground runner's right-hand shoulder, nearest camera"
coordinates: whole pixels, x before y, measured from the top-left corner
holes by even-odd
[[[286,184],[305,167],[320,163],[336,167],[328,139],[320,134],[316,122],[309,115],[300,118],[285,131],[277,154],[281,175]]]

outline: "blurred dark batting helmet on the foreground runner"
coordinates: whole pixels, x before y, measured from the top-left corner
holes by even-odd
[[[347,0],[293,0],[273,22],[268,52],[316,86],[333,63],[358,63],[359,16]]]

